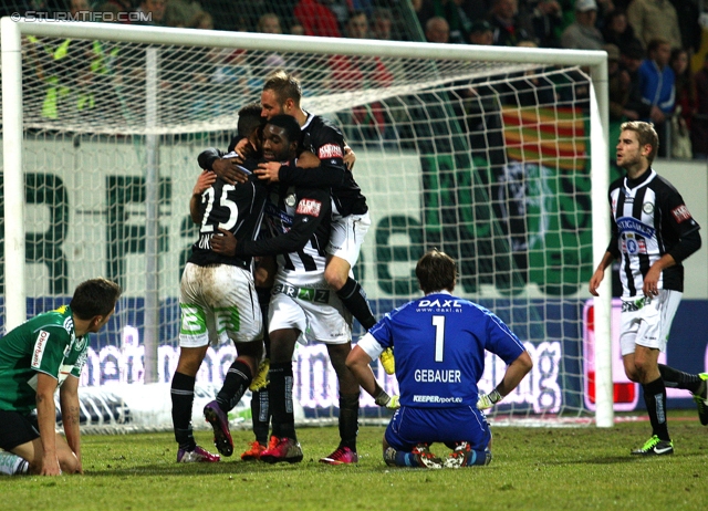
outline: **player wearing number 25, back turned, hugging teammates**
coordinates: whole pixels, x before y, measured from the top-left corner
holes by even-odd
[[[238,356],[223,386],[205,409],[214,428],[215,445],[231,456],[233,442],[227,414],[240,400],[262,356],[263,323],[253,284],[250,257],[233,257],[225,249],[227,234],[238,240],[256,237],[261,225],[267,187],[254,176],[242,185],[229,185],[210,170],[197,178],[189,213],[199,223],[199,239],[180,282],[179,362],[173,376],[173,425],[179,445],[177,462],[219,461],[197,446],[191,428],[195,379],[210,344],[233,341]]]

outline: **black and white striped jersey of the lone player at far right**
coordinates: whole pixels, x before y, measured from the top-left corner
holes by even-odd
[[[636,179],[622,177],[610,186],[612,240],[607,251],[621,258],[623,296],[642,296],[644,277],[655,261],[670,253],[676,264],[662,272],[659,289],[684,291],[681,261],[700,247],[698,222],[665,178],[649,168]],[[681,240],[698,238],[691,249]],[[684,243],[686,244],[686,243]]]

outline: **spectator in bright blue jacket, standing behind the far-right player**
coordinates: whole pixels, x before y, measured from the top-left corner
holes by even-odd
[[[635,0],[636,1],[636,0]],[[671,56],[671,43],[666,39],[654,39],[647,46],[647,59],[639,66],[639,87],[642,102],[652,107],[649,117],[643,121],[654,123],[659,136],[659,153],[666,157],[667,119],[674,112],[676,100],[676,76],[668,65]]]

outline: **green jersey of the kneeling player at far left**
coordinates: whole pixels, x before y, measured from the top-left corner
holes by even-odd
[[[29,320],[0,338],[0,409],[37,408],[38,373],[59,382],[80,377],[88,335],[76,337],[69,305]]]

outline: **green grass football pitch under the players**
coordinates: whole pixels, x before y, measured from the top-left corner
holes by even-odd
[[[708,427],[670,411],[676,453],[631,456],[649,437],[646,420],[614,428],[493,427],[493,460],[472,469],[398,469],[381,456],[383,427],[362,427],[360,462],[317,462],[336,447],[336,427],[300,428],[296,465],[243,462],[252,435],[233,431],[235,455],[177,465],[171,434],[84,436],[82,476],[0,477],[0,510],[546,510],[704,509]],[[195,434],[215,451],[210,430]],[[433,446],[439,456],[445,446]]]

